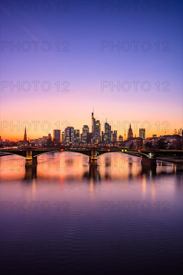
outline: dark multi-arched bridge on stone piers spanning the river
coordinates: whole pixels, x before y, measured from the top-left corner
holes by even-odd
[[[120,152],[141,157],[141,163],[148,166],[156,166],[156,157],[160,155],[175,154],[183,156],[183,150],[160,149],[129,149],[126,147],[99,147],[99,146],[61,146],[60,148],[24,147],[1,148],[0,153],[16,154],[25,157],[25,167],[37,164],[37,156],[50,152],[76,152],[87,155],[90,165],[97,165],[97,157],[103,153]]]

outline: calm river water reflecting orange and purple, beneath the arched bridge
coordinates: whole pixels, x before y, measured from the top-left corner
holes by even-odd
[[[4,272],[178,274],[182,256],[181,167],[106,153],[98,166],[77,153],[1,160]],[[13,166],[17,165],[17,166]]]

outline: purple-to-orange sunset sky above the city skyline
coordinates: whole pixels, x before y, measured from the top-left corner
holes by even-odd
[[[3,140],[25,125],[29,138],[91,131],[93,108],[122,136],[129,122],[146,137],[182,127],[182,1],[1,1],[0,13]]]

